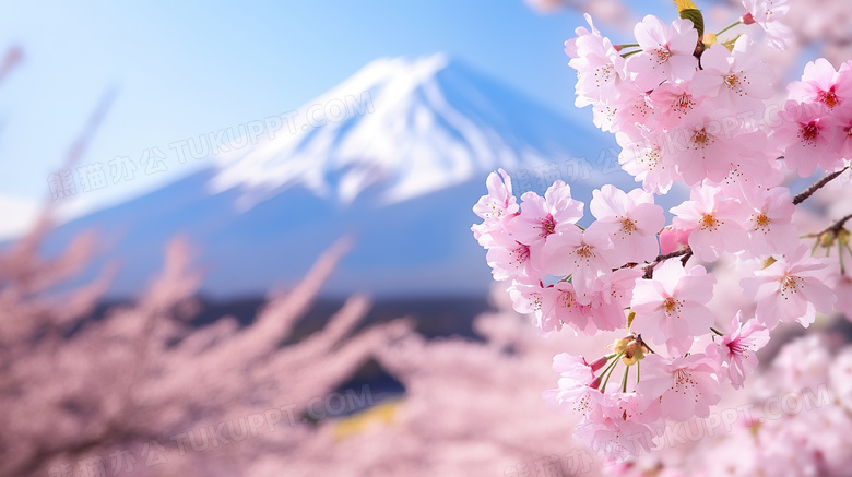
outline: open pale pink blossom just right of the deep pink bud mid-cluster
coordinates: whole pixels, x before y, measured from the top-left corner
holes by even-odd
[[[701,186],[688,201],[672,207],[675,228],[689,230],[689,247],[699,259],[713,262],[722,252],[744,249],[747,236],[739,225],[742,204],[723,196],[721,189]]]

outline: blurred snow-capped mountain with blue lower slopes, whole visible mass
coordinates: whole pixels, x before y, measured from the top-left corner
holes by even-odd
[[[481,293],[489,273],[470,225],[486,175],[525,172],[543,192],[537,166],[565,171],[575,157],[595,165],[612,146],[591,124],[443,55],[376,60],[284,119],[206,170],[66,224],[52,247],[99,230],[104,260],[125,269],[114,294],[126,295],[158,269],[163,243],[182,234],[199,246],[203,291],[233,296],[292,282],[355,232],[332,293]],[[582,179],[572,187],[588,201],[603,178]],[[606,178],[614,180],[631,182]]]

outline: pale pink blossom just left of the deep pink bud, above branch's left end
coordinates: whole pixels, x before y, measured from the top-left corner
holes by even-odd
[[[641,189],[625,193],[606,184],[592,192],[589,211],[610,237],[610,253],[616,263],[651,261],[659,254],[656,234],[665,216],[652,194]]]

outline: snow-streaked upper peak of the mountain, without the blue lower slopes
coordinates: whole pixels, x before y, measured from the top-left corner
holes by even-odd
[[[344,204],[366,190],[395,203],[567,158],[578,129],[446,53],[377,59],[292,120],[224,157],[213,191],[238,188],[242,208],[292,187]]]

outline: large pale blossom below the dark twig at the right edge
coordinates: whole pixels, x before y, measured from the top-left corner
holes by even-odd
[[[776,260],[739,282],[746,298],[757,302],[757,321],[770,330],[779,321],[797,321],[807,327],[817,311],[831,311],[836,298],[825,283],[831,261],[812,258],[806,246]]]

